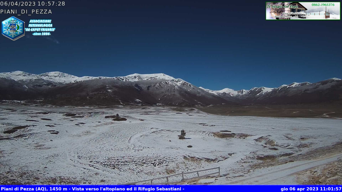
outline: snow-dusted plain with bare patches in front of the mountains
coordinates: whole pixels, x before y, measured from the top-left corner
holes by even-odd
[[[127,121],[105,118],[116,113]],[[221,177],[192,184],[329,184],[340,177],[320,167],[337,166],[341,136],[341,119],[1,104],[0,184],[124,184],[218,166]]]

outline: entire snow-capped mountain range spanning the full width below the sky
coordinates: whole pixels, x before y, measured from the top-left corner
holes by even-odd
[[[171,105],[207,106],[222,104],[287,104],[341,99],[342,80],[291,83],[277,88],[219,91],[197,87],[163,73],[131,74],[124,77],[77,77],[63,72],[31,74],[0,73],[0,99],[43,98],[61,105]]]

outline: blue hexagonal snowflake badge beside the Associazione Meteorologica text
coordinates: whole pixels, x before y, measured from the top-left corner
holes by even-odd
[[[2,35],[12,39],[13,41],[25,35],[25,22],[16,17],[10,17],[4,20],[1,27]]]

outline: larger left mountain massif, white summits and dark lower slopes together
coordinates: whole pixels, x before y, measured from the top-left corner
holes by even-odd
[[[63,105],[208,106],[229,103],[163,73],[77,77],[58,71],[42,74],[14,71],[0,73],[0,84],[0,99],[45,98],[46,102]]]

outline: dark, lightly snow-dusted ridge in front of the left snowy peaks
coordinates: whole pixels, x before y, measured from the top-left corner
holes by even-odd
[[[53,105],[220,105],[227,101],[194,85],[178,86],[168,80],[119,81],[95,79],[61,85],[42,92]]]

